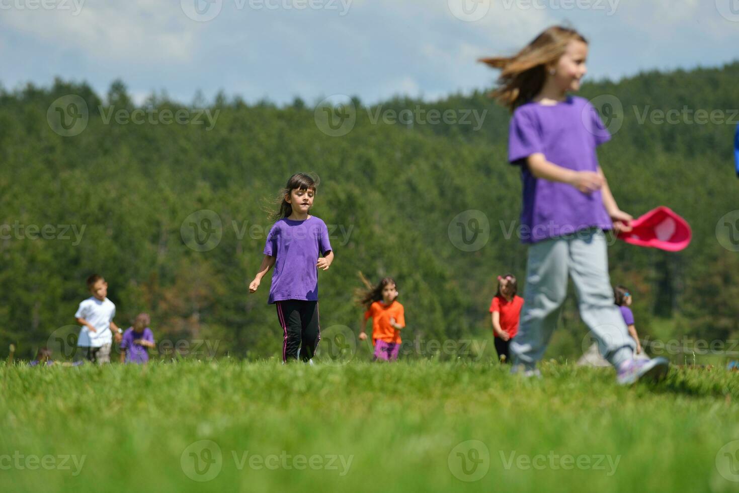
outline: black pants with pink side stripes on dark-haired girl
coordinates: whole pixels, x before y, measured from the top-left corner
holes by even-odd
[[[298,348],[301,348],[302,361],[313,358],[321,340],[319,302],[285,299],[275,302],[275,305],[277,318],[285,335],[282,340],[282,361],[298,359]]]

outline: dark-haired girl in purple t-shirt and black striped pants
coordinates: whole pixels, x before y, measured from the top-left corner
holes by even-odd
[[[318,190],[308,174],[296,173],[280,191],[279,217],[267,235],[259,272],[249,285],[255,293],[274,266],[268,303],[277,308],[282,327],[282,361],[309,361],[321,340],[318,269],[327,271],[333,251],[326,224],[308,214]],[[321,257],[321,254],[323,255]]]

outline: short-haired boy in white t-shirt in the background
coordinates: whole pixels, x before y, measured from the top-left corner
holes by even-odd
[[[82,326],[77,340],[78,347],[87,348],[87,359],[93,363],[110,363],[112,335],[120,342],[120,328],[113,322],[115,305],[106,298],[108,283],[102,276],[92,274],[87,278],[87,288],[92,296],[80,303],[75,320]]]

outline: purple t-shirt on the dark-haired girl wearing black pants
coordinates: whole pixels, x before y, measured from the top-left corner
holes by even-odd
[[[268,303],[284,299],[318,301],[319,254],[331,251],[328,228],[318,217],[277,220],[265,245],[265,255],[276,256]]]

